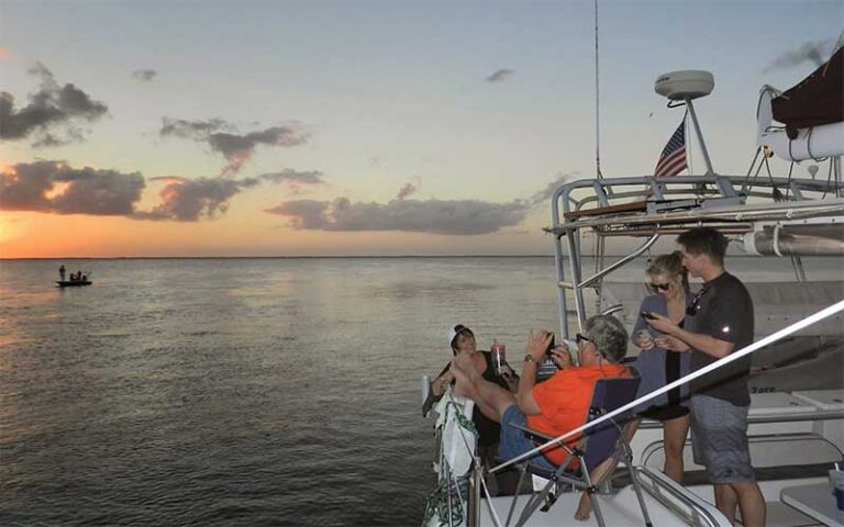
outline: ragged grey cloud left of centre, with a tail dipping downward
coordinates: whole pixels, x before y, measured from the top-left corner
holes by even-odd
[[[220,119],[185,121],[165,117],[159,134],[208,143],[213,152],[222,154],[229,161],[220,173],[222,177],[234,177],[252,159],[258,145],[291,147],[304,144],[309,138],[298,124],[273,126],[245,135],[227,132],[232,128]]]

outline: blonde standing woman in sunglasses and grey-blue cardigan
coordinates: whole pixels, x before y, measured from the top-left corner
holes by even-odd
[[[642,301],[640,313],[656,313],[667,316],[678,326],[684,326],[687,299],[690,296],[688,272],[682,267],[679,251],[660,255],[649,261],[647,285],[653,294]],[[662,346],[662,334],[651,328],[645,318],[640,316],[633,328],[633,344],[642,348],[633,365],[642,378],[636,397],[658,390],[664,385],[688,374],[690,354],[673,351]],[[665,445],[665,467],[663,472],[677,483],[682,483],[685,471],[682,448],[689,433],[689,389],[676,388],[667,394],[648,401],[635,410],[638,419],[632,426],[632,437],[643,417],[663,424],[663,444]]]

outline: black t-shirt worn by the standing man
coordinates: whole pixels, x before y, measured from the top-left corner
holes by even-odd
[[[733,352],[753,344],[753,301],[744,284],[723,272],[703,284],[697,305],[690,306],[696,313],[686,317],[687,327],[700,333],[733,343]],[[697,371],[714,362],[714,357],[692,350],[690,370]],[[747,377],[751,357],[746,356],[711,373],[691,381],[692,394],[709,395],[728,401],[736,406],[751,404]]]

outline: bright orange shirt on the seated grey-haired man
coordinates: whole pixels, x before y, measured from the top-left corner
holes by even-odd
[[[569,367],[554,373],[554,377],[533,386],[533,399],[542,410],[541,414],[528,415],[528,427],[545,435],[557,437],[586,423],[586,414],[592,400],[595,382],[603,378],[630,377],[621,365],[602,363],[582,368]],[[580,435],[569,437],[571,446]],[[554,464],[565,461],[566,452],[559,447],[542,452]]]

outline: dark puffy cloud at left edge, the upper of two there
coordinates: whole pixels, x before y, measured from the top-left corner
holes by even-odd
[[[85,91],[71,83],[59,86],[53,74],[41,63],[30,68],[41,78],[41,88],[30,93],[30,103],[14,108],[14,97],[0,92],[0,139],[16,141],[33,135],[33,146],[57,146],[84,139],[77,126],[80,121],[92,122],[109,111]]]

